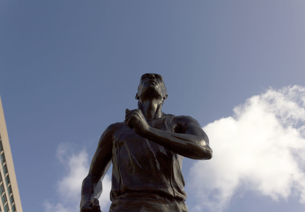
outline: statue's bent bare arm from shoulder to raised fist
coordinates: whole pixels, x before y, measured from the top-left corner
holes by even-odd
[[[189,116],[174,117],[171,124],[174,132],[152,128],[146,122],[141,110],[126,110],[125,122],[135,133],[166,147],[181,156],[191,159],[209,160],[213,151],[209,139],[200,124]]]

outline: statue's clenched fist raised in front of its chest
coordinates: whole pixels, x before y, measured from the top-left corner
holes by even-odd
[[[125,123],[131,129],[134,129],[135,133],[142,136],[146,131],[151,128],[147,123],[143,113],[139,109],[125,110]]]

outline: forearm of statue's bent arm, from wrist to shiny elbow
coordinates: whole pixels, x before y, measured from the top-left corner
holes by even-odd
[[[141,136],[181,156],[199,160],[212,158],[213,151],[209,144],[196,135],[168,132],[150,127],[143,131]]]

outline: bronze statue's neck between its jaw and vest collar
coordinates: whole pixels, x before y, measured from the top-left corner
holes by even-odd
[[[165,116],[162,112],[162,100],[150,99],[144,102],[139,101],[138,109],[140,109],[146,120],[157,119]]]

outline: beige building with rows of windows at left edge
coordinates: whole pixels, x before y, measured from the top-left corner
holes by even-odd
[[[9,137],[0,97],[0,211],[22,212]]]

